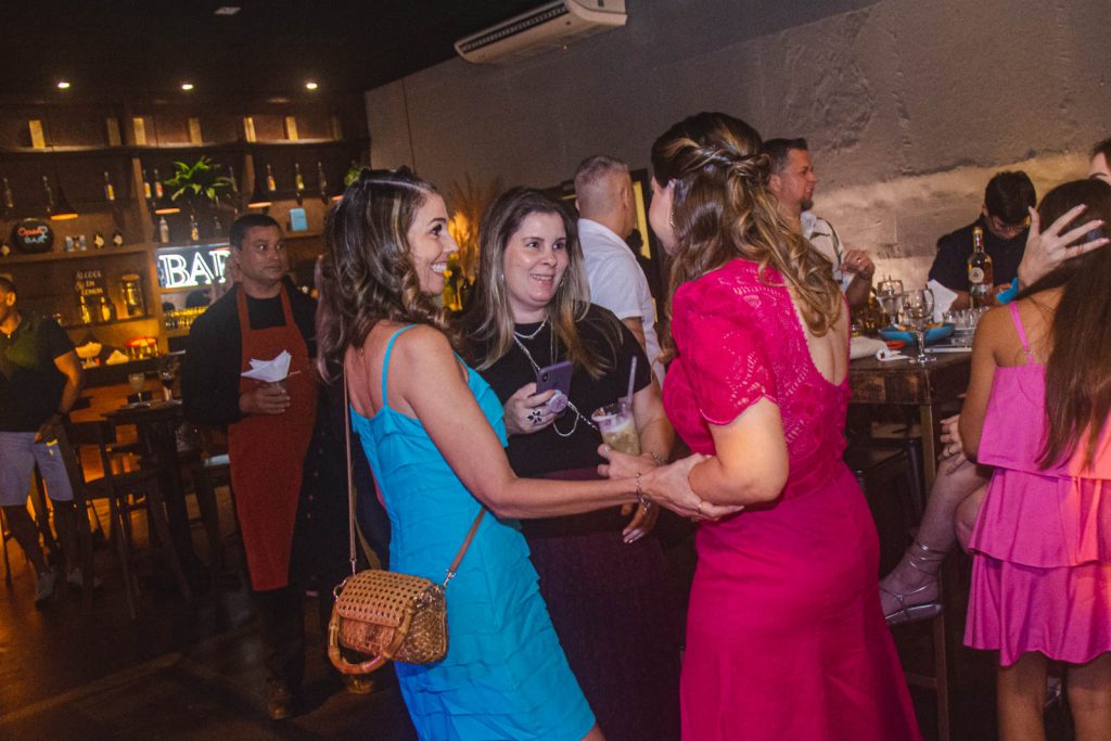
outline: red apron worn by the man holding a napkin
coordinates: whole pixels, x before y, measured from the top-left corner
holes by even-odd
[[[301,493],[301,469],[317,419],[317,382],[309,368],[309,348],[293,321],[286,287],[281,307],[286,324],[251,329],[247,314],[247,294],[239,287],[239,332],[242,338],[242,370],[252,358],[270,360],[282,350],[292,356],[291,375],[286,379],[290,405],[281,414],[244,417],[228,428],[231,458],[231,485],[236,492],[236,512],[247,551],[251,588],[256,591],[279,589],[289,583],[289,557],[293,545],[293,524]],[[292,374],[298,371],[296,374]],[[239,378],[242,394],[260,384]]]

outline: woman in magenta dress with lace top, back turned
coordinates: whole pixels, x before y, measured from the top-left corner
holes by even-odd
[[[848,309],[779,218],[743,121],[700,113],[652,148],[653,231],[674,258],[668,417],[697,454],[704,520],[687,618],[683,739],[918,739],[877,591],[878,541],[841,461]],[[685,500],[684,500],[685,501]],[[707,513],[742,504],[713,522]]]

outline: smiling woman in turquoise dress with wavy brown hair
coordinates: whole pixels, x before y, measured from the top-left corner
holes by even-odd
[[[391,568],[442,581],[480,508],[490,511],[448,585],[448,655],[397,668],[418,733],[602,739],[517,520],[637,502],[635,482],[513,474],[501,403],[454,353],[432,301],[458,248],[430,183],[408,170],[364,170],[329,217],[327,240],[320,362],[344,369],[354,428],[390,517]],[[673,467],[677,490],[689,467]]]

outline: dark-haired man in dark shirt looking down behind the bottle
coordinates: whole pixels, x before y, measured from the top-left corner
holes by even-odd
[[[938,254],[930,268],[930,280],[938,281],[957,294],[948,309],[938,307],[939,311],[969,308],[968,259],[972,253],[972,230],[975,227],[983,230],[983,249],[991,256],[992,293],[1010,288],[1027,247],[1027,209],[1033,208],[1037,202],[1034,184],[1021,170],[999,172],[988,181],[980,218],[938,240]]]

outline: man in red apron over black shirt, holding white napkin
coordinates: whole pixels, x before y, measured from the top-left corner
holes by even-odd
[[[303,585],[290,583],[290,557],[319,393],[310,362],[316,301],[284,280],[289,264],[273,219],[240,217],[230,241],[239,282],[192,326],[182,398],[191,421],[228,428],[236,511],[262,623],[268,712],[277,720],[292,713],[304,669]],[[283,350],[292,358],[284,381],[241,375],[252,359]]]

